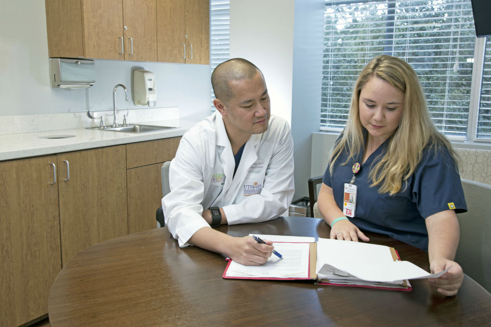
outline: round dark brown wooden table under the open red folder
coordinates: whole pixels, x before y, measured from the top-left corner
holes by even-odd
[[[219,226],[249,233],[329,237],[320,219],[285,217]],[[429,271],[428,255],[378,234],[403,260]],[[490,326],[491,295],[465,276],[455,297],[426,279],[412,291],[321,286],[312,281],[234,280],[224,257],[180,249],[166,227],[119,237],[78,253],[55,280],[52,326]]]

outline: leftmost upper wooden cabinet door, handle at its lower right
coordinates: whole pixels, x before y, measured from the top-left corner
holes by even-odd
[[[84,57],[124,59],[121,0],[82,0]]]

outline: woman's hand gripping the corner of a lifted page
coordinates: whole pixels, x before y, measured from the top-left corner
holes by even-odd
[[[437,287],[438,293],[446,296],[456,295],[461,287],[462,280],[464,279],[462,267],[457,262],[446,258],[435,258],[430,262],[432,273],[441,272],[451,266],[453,267],[439,278],[428,279],[431,285]]]

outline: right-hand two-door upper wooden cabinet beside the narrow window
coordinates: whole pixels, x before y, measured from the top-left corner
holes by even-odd
[[[209,0],[157,0],[158,61],[210,63]]]

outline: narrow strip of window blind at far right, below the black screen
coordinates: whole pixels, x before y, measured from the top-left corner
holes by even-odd
[[[481,99],[477,121],[477,139],[491,139],[491,38],[486,40]]]

